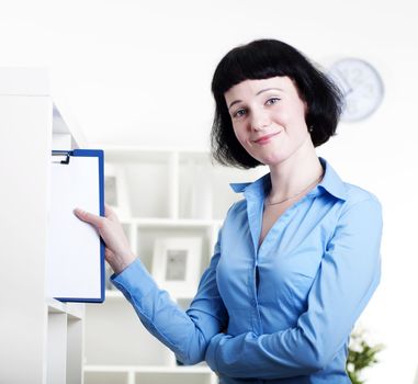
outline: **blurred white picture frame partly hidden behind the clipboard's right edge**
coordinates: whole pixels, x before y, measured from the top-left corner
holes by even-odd
[[[131,202],[123,166],[104,163],[104,201],[120,217],[131,217]]]

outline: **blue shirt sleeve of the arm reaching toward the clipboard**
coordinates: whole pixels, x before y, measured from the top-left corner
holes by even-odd
[[[227,323],[227,313],[216,285],[219,239],[221,235],[211,264],[202,275],[197,294],[187,312],[157,286],[138,259],[112,276],[112,282],[131,302],[148,331],[184,364],[204,360],[208,341]]]

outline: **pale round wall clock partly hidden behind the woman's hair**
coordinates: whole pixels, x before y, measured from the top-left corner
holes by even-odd
[[[363,120],[381,104],[383,81],[369,63],[358,58],[346,58],[334,64],[329,75],[343,94],[342,121]]]

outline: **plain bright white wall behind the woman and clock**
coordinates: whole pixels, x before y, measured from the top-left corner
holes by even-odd
[[[323,66],[371,61],[381,109],[318,149],[384,206],[382,284],[362,317],[386,346],[370,384],[413,383],[418,364],[418,27],[413,0],[50,0],[0,2],[1,66],[47,66],[91,143],[206,147],[215,65],[275,37]],[[355,283],[355,282],[353,282]]]

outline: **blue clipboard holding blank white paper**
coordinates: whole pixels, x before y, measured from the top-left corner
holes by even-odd
[[[53,150],[46,295],[60,302],[103,303],[104,242],[74,214],[104,216],[103,151]]]

